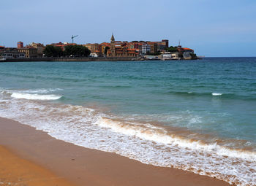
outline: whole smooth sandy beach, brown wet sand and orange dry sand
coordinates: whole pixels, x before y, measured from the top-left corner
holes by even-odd
[[[189,171],[146,165],[115,153],[79,147],[54,139],[29,125],[21,125],[1,117],[0,145],[8,149],[0,148],[0,179],[10,174],[8,177],[13,182],[18,182],[18,179],[12,172],[29,167],[30,169],[22,171],[24,179],[33,179],[33,173],[38,169],[41,170],[38,175],[42,174],[39,177],[64,186],[229,185]],[[8,160],[11,160],[10,163]],[[17,167],[13,166],[16,163]],[[31,166],[26,166],[26,163]],[[34,186],[50,185],[41,180],[34,183]]]

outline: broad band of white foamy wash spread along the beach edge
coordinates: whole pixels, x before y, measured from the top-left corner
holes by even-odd
[[[5,98],[0,108],[1,117],[34,126],[65,142],[217,177],[230,184],[256,183],[255,152],[187,139],[150,123],[116,120],[83,106]]]

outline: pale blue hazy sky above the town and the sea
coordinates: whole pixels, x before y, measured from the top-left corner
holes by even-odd
[[[8,0],[0,45],[160,41],[206,57],[256,56],[255,0]]]

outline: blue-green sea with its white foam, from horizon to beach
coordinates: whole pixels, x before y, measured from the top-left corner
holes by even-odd
[[[0,117],[142,163],[256,185],[256,58],[0,63]]]

